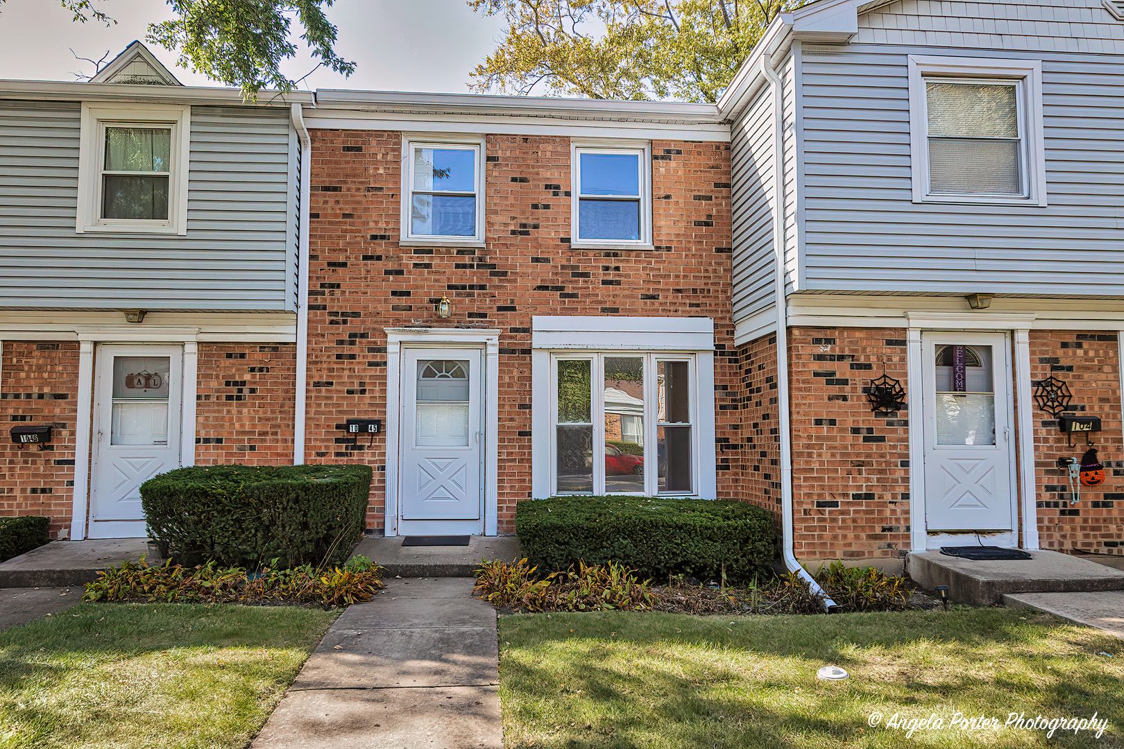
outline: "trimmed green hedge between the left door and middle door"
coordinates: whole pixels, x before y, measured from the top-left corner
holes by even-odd
[[[164,556],[255,569],[342,565],[366,518],[371,467],[193,466],[140,485],[148,535]]]

